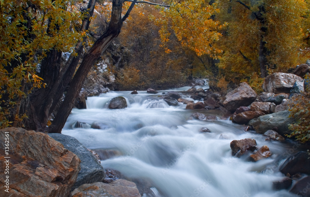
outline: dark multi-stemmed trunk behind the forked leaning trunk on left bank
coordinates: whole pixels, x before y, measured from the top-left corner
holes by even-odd
[[[93,14],[96,0],[90,0],[88,4],[88,15],[83,20],[81,32],[88,29],[90,17]],[[75,52],[78,56],[71,55],[68,61],[61,67],[61,52],[51,50],[47,57],[42,61],[39,76],[44,79],[46,88],[36,89],[29,96],[28,102],[24,106],[27,111],[28,120],[25,123],[26,128],[36,131],[44,131],[51,113],[59,102],[67,85],[71,81],[80,56],[83,51],[82,41],[78,41]]]

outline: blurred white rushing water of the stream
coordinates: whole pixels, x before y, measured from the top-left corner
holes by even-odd
[[[296,196],[286,190],[272,190],[272,182],[284,177],[278,166],[292,154],[293,144],[265,141],[262,135],[246,132],[229,120],[189,120],[194,111],[186,110],[181,103],[173,107],[158,100],[163,92],[167,91],[156,95],[108,92],[89,97],[87,109],[72,110],[62,133],[90,149],[121,152],[121,156],[101,164],[129,179],[148,180],[150,192],[143,197]],[[107,109],[108,101],[116,96],[125,97],[128,108]],[[221,115],[219,110],[199,112]],[[77,121],[96,123],[102,129],[73,128]],[[200,133],[201,127],[211,133]],[[230,142],[244,138],[255,139],[259,148],[267,145],[272,156],[257,162],[249,161],[249,154],[233,157]]]

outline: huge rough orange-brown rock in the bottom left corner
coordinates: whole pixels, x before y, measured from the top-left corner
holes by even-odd
[[[5,132],[10,136],[9,174],[5,173]],[[9,127],[0,130],[0,196],[68,196],[80,160],[47,134]],[[9,192],[5,176],[9,175]]]

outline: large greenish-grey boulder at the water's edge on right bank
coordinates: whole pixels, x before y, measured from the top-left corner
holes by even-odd
[[[294,118],[289,118],[290,112],[288,110],[266,114],[258,118],[250,120],[249,125],[253,126],[256,133],[263,134],[271,130],[275,126],[278,127],[280,135],[290,134],[288,124],[293,123]]]

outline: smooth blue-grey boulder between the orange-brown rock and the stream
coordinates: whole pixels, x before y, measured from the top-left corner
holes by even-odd
[[[105,173],[102,165],[77,139],[60,133],[50,133],[48,135],[62,143],[64,148],[76,154],[81,160],[81,170],[72,189],[85,183],[102,182],[104,180]]]

